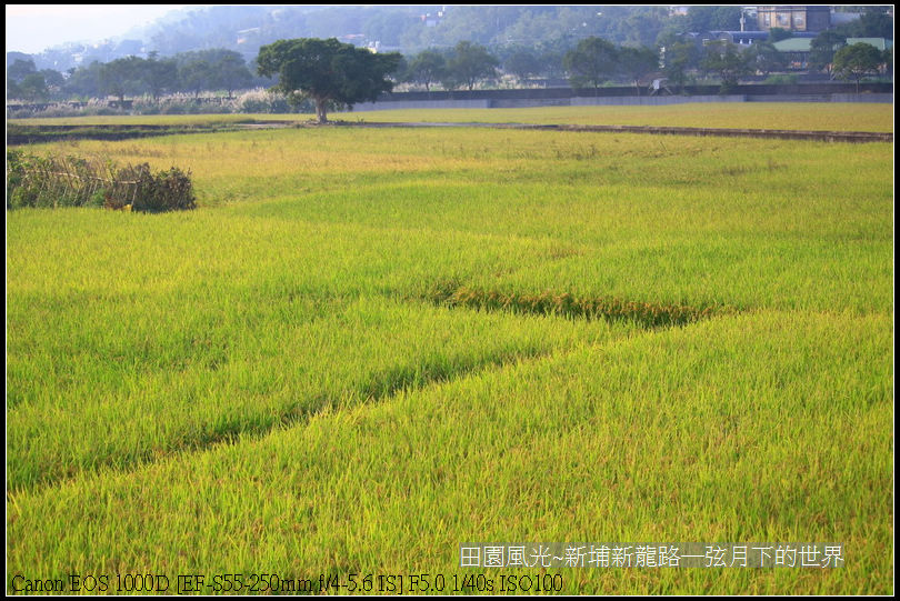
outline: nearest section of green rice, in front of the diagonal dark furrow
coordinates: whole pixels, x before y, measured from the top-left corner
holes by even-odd
[[[838,541],[846,563],[548,573],[572,593],[890,592],[890,321],[766,312],[643,332],[13,492],[8,588],[89,570],[452,583],[478,571],[459,567],[464,541],[701,540]]]

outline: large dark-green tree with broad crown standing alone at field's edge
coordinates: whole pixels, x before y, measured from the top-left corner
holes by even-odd
[[[373,53],[334,38],[299,38],[260,48],[257,70],[263,77],[278,76],[276,90],[289,101],[312,99],[319,122],[326,123],[329,103],[352,107],[391,91],[388,76],[397,70],[400,58],[397,52]]]

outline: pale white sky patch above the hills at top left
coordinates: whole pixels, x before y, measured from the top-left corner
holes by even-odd
[[[7,52],[34,54],[64,42],[114,38],[191,6],[208,4],[7,4]]]

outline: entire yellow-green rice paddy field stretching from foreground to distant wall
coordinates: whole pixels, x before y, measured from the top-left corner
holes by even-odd
[[[393,119],[892,131],[892,107],[789,107]],[[892,143],[28,150],[190,169],[199,208],[7,211],[8,593],[893,593]],[[527,567],[462,567],[476,542]],[[611,542],[843,561],[530,558]]]

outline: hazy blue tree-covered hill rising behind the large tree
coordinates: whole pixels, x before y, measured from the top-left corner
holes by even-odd
[[[261,46],[290,38],[338,38],[403,53],[460,40],[492,48],[571,46],[600,36],[616,43],[652,44],[669,20],[666,7],[220,6],[174,11],[118,39],[68,43],[31,58],[38,69],[66,71],[129,54],[170,57],[224,48],[250,61]]]

